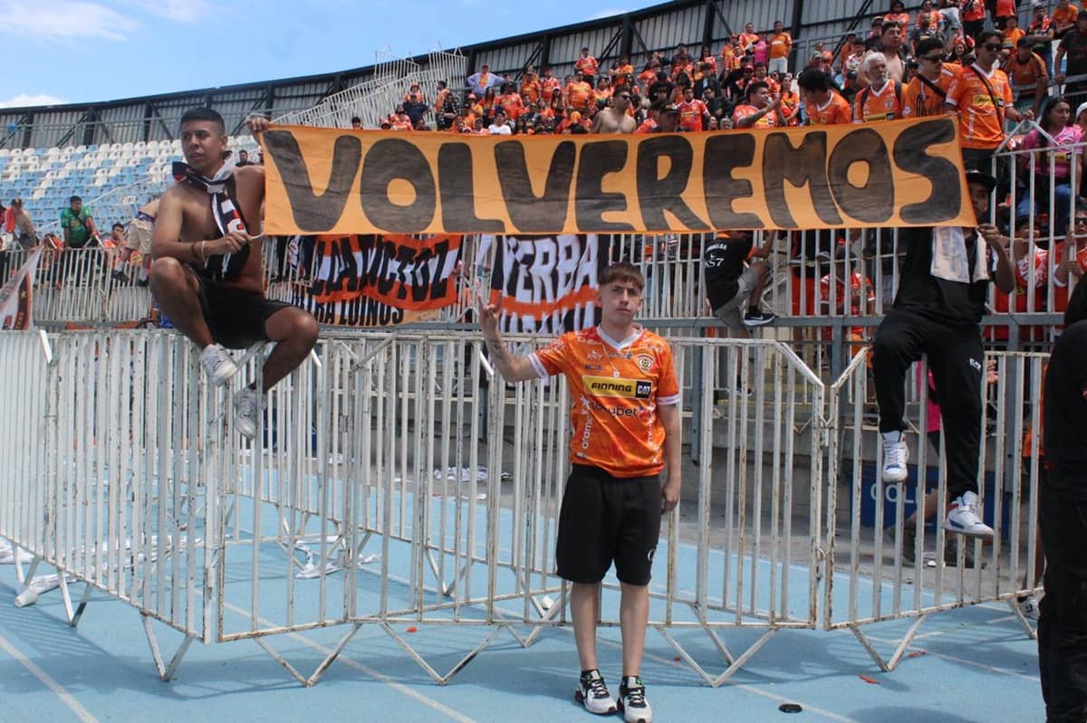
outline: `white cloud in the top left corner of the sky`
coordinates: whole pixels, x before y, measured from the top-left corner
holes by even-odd
[[[100,38],[124,40],[139,24],[97,2],[37,0],[0,2],[0,34],[38,40]]]

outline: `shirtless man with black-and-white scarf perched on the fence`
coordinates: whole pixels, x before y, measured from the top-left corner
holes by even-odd
[[[253,134],[267,122],[250,122]],[[192,109],[182,116],[185,180],[162,196],[151,239],[151,293],[174,326],[201,350],[212,383],[226,383],[238,369],[224,347],[275,342],[264,363],[267,392],[305,359],[317,340],[314,318],[290,304],[264,297],[261,269],[261,205],[264,168],[225,162],[222,116]],[[254,385],[234,395],[235,426],[257,434]]]

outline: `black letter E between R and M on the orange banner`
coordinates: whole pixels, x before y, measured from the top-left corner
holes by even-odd
[[[705,141],[702,158],[702,189],[710,210],[710,224],[717,229],[762,228],[755,214],[737,214],[733,201],[750,199],[751,181],[733,178],[733,169],[754,161],[754,136],[751,134],[714,135]]]

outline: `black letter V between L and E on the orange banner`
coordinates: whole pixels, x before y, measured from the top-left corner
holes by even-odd
[[[522,233],[547,233],[566,223],[570,207],[570,181],[574,177],[577,147],[571,141],[559,143],[551,155],[551,165],[544,182],[544,195],[533,192],[521,141],[503,141],[495,145],[498,183],[502,188],[505,210],[514,228]]]

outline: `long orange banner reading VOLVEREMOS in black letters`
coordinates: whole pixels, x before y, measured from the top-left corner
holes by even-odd
[[[951,116],[635,136],[272,126],[265,232],[974,226]]]

